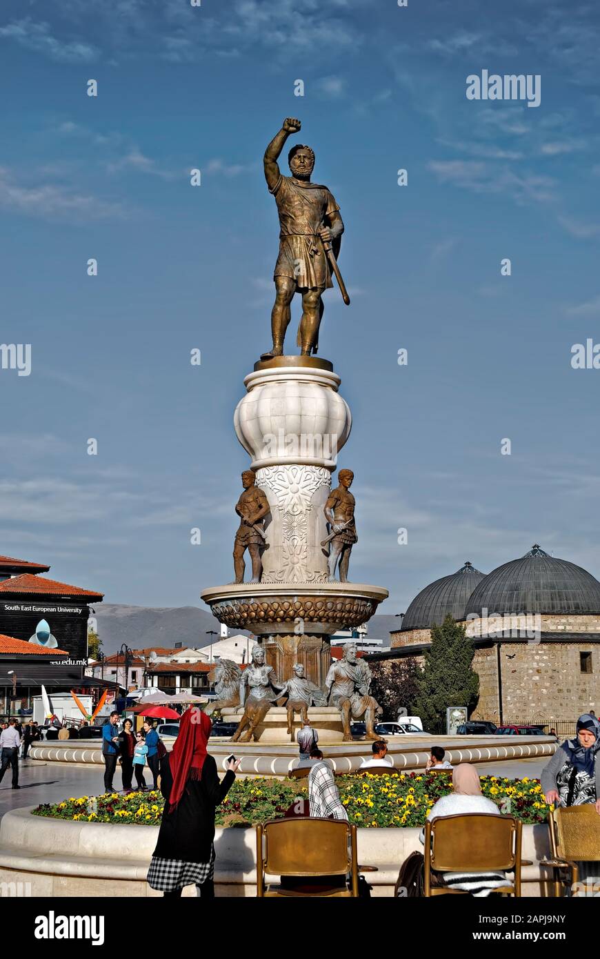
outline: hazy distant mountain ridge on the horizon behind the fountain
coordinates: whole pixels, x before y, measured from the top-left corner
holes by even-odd
[[[219,638],[206,635],[209,629],[219,632],[219,622],[212,613],[196,606],[155,608],[98,603],[94,608],[104,655],[118,652],[123,643],[130,649],[148,646],[173,648],[175,643],[198,648],[210,645]],[[398,629],[400,622],[394,616],[374,616],[369,622],[369,636],[389,645],[389,630]],[[229,632],[231,635],[233,632],[245,633],[246,630]]]

